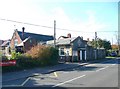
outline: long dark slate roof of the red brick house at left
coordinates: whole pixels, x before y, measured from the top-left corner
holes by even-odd
[[[30,37],[33,39],[36,39],[38,41],[48,41],[48,40],[53,40],[53,36],[49,36],[49,35],[42,35],[42,34],[35,34],[35,33],[29,33],[29,32],[24,32],[24,38],[22,38],[22,32],[21,31],[17,31],[20,38],[23,40],[25,40],[26,38]]]

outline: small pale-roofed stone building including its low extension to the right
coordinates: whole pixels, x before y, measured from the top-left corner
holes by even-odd
[[[47,41],[47,45],[53,46],[54,40]],[[56,40],[56,47],[59,49],[60,61],[87,61],[104,57],[103,49],[95,49],[87,44],[83,37],[60,36]],[[98,55],[98,53],[100,55]]]

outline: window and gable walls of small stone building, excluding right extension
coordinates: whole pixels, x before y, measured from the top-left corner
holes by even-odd
[[[78,37],[69,46],[68,45],[59,45],[58,48],[59,48],[60,60],[74,62],[74,61],[80,60],[78,58],[78,55],[80,55],[80,53],[78,54],[78,51],[80,51],[80,50],[83,51],[83,49],[80,49],[80,48],[84,48],[84,52],[85,52],[85,43],[80,37]],[[64,48],[65,55],[60,55],[61,48]],[[67,55],[67,51],[69,51],[69,55]],[[84,55],[84,58],[85,58],[85,55]]]

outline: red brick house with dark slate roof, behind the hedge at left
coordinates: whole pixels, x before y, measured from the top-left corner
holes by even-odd
[[[22,31],[17,29],[14,31],[10,47],[12,50],[16,49],[17,52],[26,52],[35,45],[45,44],[46,41],[53,39],[53,36],[25,32],[23,27]]]

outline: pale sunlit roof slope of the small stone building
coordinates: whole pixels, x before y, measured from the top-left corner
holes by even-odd
[[[72,38],[65,38],[65,39],[58,39],[56,40],[56,45],[69,45],[72,43],[77,37],[72,37]],[[47,44],[53,45],[54,40],[47,41]]]

